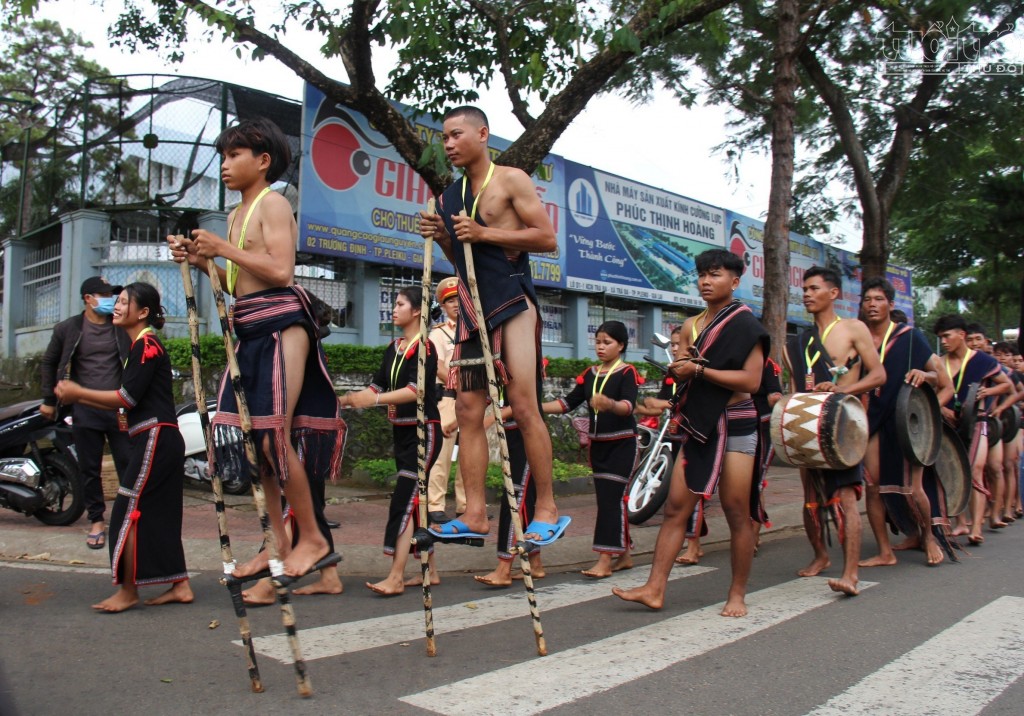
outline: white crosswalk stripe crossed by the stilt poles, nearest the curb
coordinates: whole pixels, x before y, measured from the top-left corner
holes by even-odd
[[[673,571],[671,579],[696,577],[714,571],[715,567],[712,566],[688,566],[685,570]],[[641,572],[643,571],[637,571],[632,575],[620,573],[600,582],[565,582],[539,587],[537,590],[538,605],[543,615],[548,609],[557,609],[593,599],[610,597],[611,587],[632,589],[643,584],[646,581],[646,575],[640,574]],[[414,591],[419,591],[419,589]],[[436,634],[444,634],[509,619],[526,619],[528,615],[526,597],[522,589],[513,587],[508,593],[501,596],[435,607],[434,628]],[[301,634],[302,654],[307,662],[338,657],[352,651],[423,638],[423,612],[416,610],[347,624],[331,624],[324,627],[302,629]],[[292,662],[292,651],[284,634],[256,637],[253,642],[257,652],[284,663],[290,664]],[[242,644],[238,640],[234,643]],[[443,644],[440,644],[439,648],[443,649]]]

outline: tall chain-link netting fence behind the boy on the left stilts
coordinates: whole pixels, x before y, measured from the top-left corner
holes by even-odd
[[[201,78],[126,75],[91,78],[68,107],[50,109],[45,116],[61,125],[39,135],[51,138],[31,138],[25,158],[0,167],[0,203],[17,209],[4,212],[0,235],[25,236],[90,207],[226,210],[239,197],[220,182],[214,142],[254,117],[273,120],[288,137],[293,162],[275,188],[295,195],[302,116],[295,100]]]

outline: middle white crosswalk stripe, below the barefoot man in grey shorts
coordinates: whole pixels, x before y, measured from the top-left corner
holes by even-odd
[[[861,582],[859,586],[866,589],[874,584]],[[553,657],[530,659],[402,697],[401,701],[453,715],[528,716],[656,673],[841,598],[825,586],[824,579],[795,580],[749,594],[750,614],[742,619],[720,617],[724,602],[719,602]],[[510,683],[528,683],[529,688],[523,693],[510,692]],[[506,698],[496,701],[495,693]],[[437,711],[438,705],[443,705],[442,712]]]

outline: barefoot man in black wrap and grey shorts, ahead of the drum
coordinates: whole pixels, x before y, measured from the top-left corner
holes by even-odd
[[[662,608],[690,514],[700,500],[720,490],[732,556],[732,583],[722,616],[744,617],[754,560],[751,493],[760,488],[754,481],[758,416],[751,393],[761,385],[769,339],[751,309],[732,298],[743,272],[742,259],[712,249],[696,257],[696,266],[697,287],[708,308],[683,324],[688,357],[671,366],[682,391],[675,416],[684,432],[683,455],[673,467],[647,583],[611,591],[627,601]],[[691,341],[694,327],[697,337]],[[724,431],[719,429],[723,425]]]

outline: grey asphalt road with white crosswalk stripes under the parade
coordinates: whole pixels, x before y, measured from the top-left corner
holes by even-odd
[[[238,622],[213,573],[193,580],[194,604],[98,615],[88,605],[112,591],[100,571],[0,562],[0,680],[8,690],[0,713],[1016,716],[1024,703],[1024,522],[986,534],[961,563],[929,568],[914,553],[864,570],[865,589],[854,598],[833,594],[823,579],[796,577],[810,556],[802,537],[766,542],[741,620],[718,616],[725,551],[677,567],[658,613],[608,592],[642,581],[646,565],[601,582],[549,575],[538,583],[550,652],[543,659],[521,588],[446,578],[433,590],[438,656],[428,659],[421,592],[383,599],[351,578],[343,596],[294,600],[309,700],[296,694],[272,607],[250,610],[254,634],[279,635],[258,642],[266,692],[250,692],[233,643]]]

